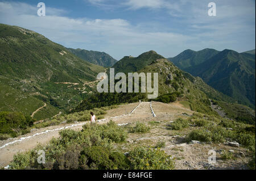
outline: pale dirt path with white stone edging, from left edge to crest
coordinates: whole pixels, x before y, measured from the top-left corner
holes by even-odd
[[[99,124],[107,123],[109,120],[113,120],[117,123],[130,123],[129,120],[138,120],[138,117],[144,115],[144,117],[151,116],[150,103],[149,102],[141,102],[141,103],[133,103],[134,107],[131,109],[129,104],[124,107],[128,107],[127,110],[130,110],[129,113],[123,113],[122,115],[106,115],[105,119],[98,120]],[[40,109],[40,108],[39,108]],[[38,110],[39,110],[38,109]],[[121,108],[124,110],[124,108]],[[118,111],[117,111],[118,112]],[[120,112],[121,113],[121,112]],[[65,125],[55,125],[47,128],[40,128],[36,132],[32,132],[18,138],[11,138],[7,141],[0,142],[0,167],[6,166],[13,159],[13,155],[22,152],[34,149],[35,146],[39,143],[46,144],[53,137],[59,137],[59,131],[63,129],[74,129],[81,130],[82,125],[88,123],[81,122],[78,124],[65,124]]]

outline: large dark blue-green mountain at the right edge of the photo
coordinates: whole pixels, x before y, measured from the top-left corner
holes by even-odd
[[[184,69],[214,89],[255,108],[255,55],[225,49],[209,60]]]

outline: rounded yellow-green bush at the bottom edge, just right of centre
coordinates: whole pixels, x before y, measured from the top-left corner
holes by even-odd
[[[174,160],[160,149],[137,147],[129,153],[131,169],[170,170]]]

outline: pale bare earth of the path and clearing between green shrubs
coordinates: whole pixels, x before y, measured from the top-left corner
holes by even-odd
[[[155,146],[159,141],[163,141],[165,146],[162,148],[167,154],[176,158],[176,169],[247,169],[246,163],[248,162],[247,151],[244,148],[234,148],[223,144],[187,144],[184,137],[191,131],[190,128],[183,131],[172,131],[167,129],[167,125],[170,121],[175,121],[178,117],[191,116],[193,111],[188,108],[184,108],[179,102],[164,104],[159,102],[152,102],[152,107],[156,114],[156,117],[152,116],[150,110],[150,102],[142,103],[137,110],[131,115],[125,115],[131,112],[139,103],[123,104],[113,110],[107,111],[105,118],[106,121],[102,121],[100,124],[107,123],[109,120],[115,121],[115,123],[130,123],[135,125],[137,121],[147,123],[150,125],[151,130],[148,133],[138,134],[129,133],[127,142],[115,145],[117,148],[121,148],[123,151],[129,151],[138,145]],[[121,117],[115,117],[121,116]],[[115,118],[113,118],[115,117]],[[153,122],[154,121],[154,122]],[[66,127],[71,124],[56,125],[52,127],[38,129],[22,137],[31,136],[35,133],[40,133],[50,129],[56,129]],[[81,130],[82,125],[73,127],[71,129]],[[46,144],[52,137],[59,137],[59,131],[48,132],[35,137],[16,142],[0,149],[0,167],[6,166],[13,159],[13,155],[19,151],[27,151],[33,149],[39,142]],[[20,137],[19,137],[20,138]],[[7,141],[1,141],[0,147],[7,142],[18,140],[19,138],[12,138]],[[234,150],[236,159],[221,160],[220,150]],[[208,165],[208,151],[217,151],[217,163],[216,165]],[[241,156],[240,152],[245,154],[245,157]]]

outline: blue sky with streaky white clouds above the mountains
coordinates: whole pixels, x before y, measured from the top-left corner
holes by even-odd
[[[39,2],[46,16],[38,16]],[[185,49],[255,49],[255,0],[0,0],[0,23],[117,60],[149,50],[167,58]]]

